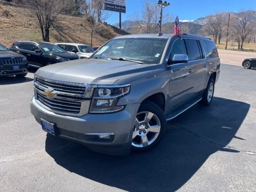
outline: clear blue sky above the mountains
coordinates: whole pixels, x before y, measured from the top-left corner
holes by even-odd
[[[153,1],[153,0],[152,0]],[[128,20],[134,12],[140,12],[143,0],[126,0],[126,13],[122,14],[122,21]],[[168,11],[173,16],[178,15],[180,20],[196,20],[205,17],[214,10],[223,12],[239,12],[241,9],[256,10],[256,0],[169,0],[171,5]],[[119,13],[112,12],[107,22],[119,22]]]

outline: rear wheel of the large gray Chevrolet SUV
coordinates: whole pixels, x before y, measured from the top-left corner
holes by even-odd
[[[204,90],[202,100],[200,100],[199,104],[201,104],[202,106],[209,106],[211,104],[214,95],[214,85],[214,79],[210,78],[207,87]]]

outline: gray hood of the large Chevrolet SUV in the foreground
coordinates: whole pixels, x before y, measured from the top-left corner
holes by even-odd
[[[121,78],[154,70],[154,68],[153,64],[108,59],[82,59],[46,66],[38,69],[36,74],[64,82],[112,85]]]

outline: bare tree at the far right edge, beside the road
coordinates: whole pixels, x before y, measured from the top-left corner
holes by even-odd
[[[240,16],[232,17],[231,30],[238,40],[238,49],[243,48],[243,44],[246,38],[253,32],[256,28],[256,21],[253,19],[255,13],[252,11],[240,12]]]

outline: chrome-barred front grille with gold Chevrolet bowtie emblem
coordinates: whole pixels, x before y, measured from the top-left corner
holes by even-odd
[[[88,113],[94,87],[40,76],[35,76],[34,80],[35,98],[39,104],[52,112],[76,116]],[[51,95],[47,95],[49,92]]]

